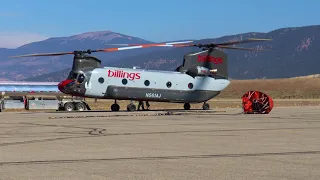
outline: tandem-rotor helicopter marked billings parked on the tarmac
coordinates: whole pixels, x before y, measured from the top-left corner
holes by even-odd
[[[112,111],[120,110],[117,100],[131,100],[127,105],[128,111],[136,110],[133,101],[184,103],[185,110],[191,108],[191,103],[203,103],[203,110],[208,110],[210,106],[207,101],[216,97],[230,84],[227,55],[217,48],[257,51],[257,49],[231,45],[268,40],[271,39],[250,38],[219,44],[191,44],[193,41],[113,44],[126,47],[12,57],[74,55],[72,69],[67,79],[58,84],[59,90],[72,96],[113,99]],[[185,54],[183,64],[175,71],[102,67],[100,59],[88,55],[93,52],[114,52],[148,47],[199,47],[202,51]]]

